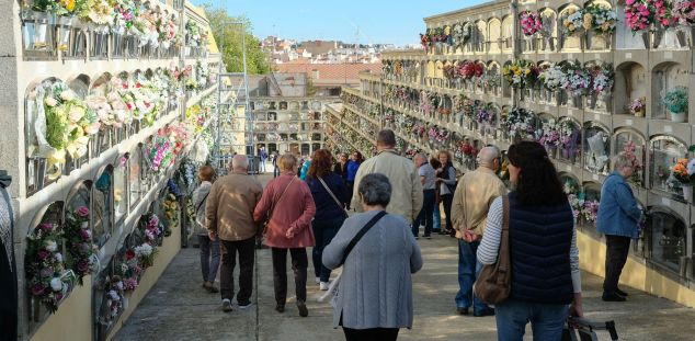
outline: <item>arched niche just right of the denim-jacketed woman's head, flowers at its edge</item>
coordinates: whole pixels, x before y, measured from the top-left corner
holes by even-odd
[[[680,181],[673,177],[673,166],[679,159],[687,157],[687,146],[670,135],[652,136],[649,140],[651,189],[685,201]]]

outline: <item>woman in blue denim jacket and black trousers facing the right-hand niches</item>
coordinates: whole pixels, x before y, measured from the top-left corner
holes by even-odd
[[[633,161],[620,152],[614,161],[613,169],[615,171],[603,182],[596,217],[596,230],[606,236],[606,269],[602,298],[606,302],[624,302],[627,293],[618,288],[618,282],[627,261],[630,239],[638,237],[642,209],[626,182],[635,172]]]

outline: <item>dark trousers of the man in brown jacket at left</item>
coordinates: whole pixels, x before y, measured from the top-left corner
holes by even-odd
[[[235,297],[235,265],[237,252],[239,252],[239,294],[237,302],[240,305],[250,303],[253,292],[253,258],[255,257],[255,237],[246,240],[220,240],[223,265],[219,273],[219,292],[223,299],[231,300]]]

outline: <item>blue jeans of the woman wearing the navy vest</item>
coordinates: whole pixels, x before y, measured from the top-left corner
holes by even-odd
[[[494,308],[499,341],[521,341],[529,321],[535,341],[562,339],[568,305],[537,304],[508,298]]]

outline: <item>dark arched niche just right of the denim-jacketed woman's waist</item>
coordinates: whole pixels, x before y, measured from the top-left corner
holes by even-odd
[[[669,272],[681,274],[687,264],[685,220],[671,208],[651,206],[647,215],[647,259]]]

